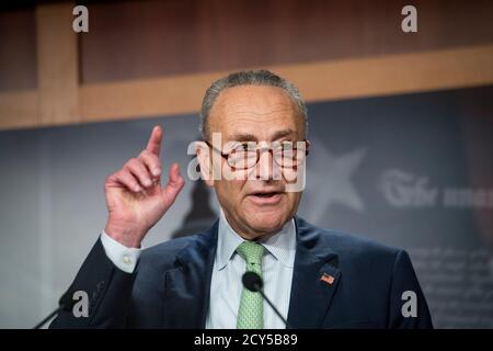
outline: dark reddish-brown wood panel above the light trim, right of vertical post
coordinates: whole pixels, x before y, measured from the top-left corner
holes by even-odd
[[[493,44],[493,2],[168,0],[92,4],[82,82],[141,79]]]

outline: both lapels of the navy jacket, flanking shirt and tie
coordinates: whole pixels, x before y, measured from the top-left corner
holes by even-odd
[[[316,227],[299,217],[295,223],[297,247],[288,325],[320,328],[341,280],[337,254],[321,242]],[[164,272],[167,328],[205,328],[217,235],[218,222],[180,251],[174,268]]]

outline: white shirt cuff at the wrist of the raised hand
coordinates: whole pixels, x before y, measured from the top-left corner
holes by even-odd
[[[142,249],[127,248],[110,237],[104,230],[101,234],[101,244],[113,264],[126,273],[134,273]]]

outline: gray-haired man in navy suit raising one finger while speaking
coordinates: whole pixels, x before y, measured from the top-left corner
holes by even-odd
[[[205,233],[142,250],[184,185],[177,165],[161,186],[162,131],[105,182],[108,217],[69,292],[88,317],[61,312],[56,328],[432,328],[405,251],[318,228],[296,216],[307,110],[297,88],[266,70],[215,81],[200,111],[200,174],[221,211]],[[301,182],[302,183],[302,182]],[[295,186],[293,186],[295,185]]]

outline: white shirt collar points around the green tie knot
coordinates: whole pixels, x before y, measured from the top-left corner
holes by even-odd
[[[222,270],[229,263],[238,246],[243,241],[245,240],[231,228],[222,208],[220,208],[216,252],[216,269],[218,271]],[[278,233],[259,242],[266,249],[264,254],[272,254],[288,268],[295,265],[296,226],[294,218],[288,220]]]

